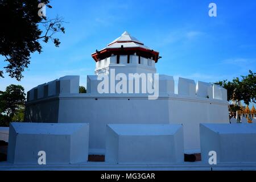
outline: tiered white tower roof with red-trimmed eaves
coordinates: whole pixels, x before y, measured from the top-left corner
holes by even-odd
[[[93,59],[97,62],[113,55],[127,55],[137,53],[139,56],[151,58],[155,62],[159,59],[159,52],[144,46],[138,39],[131,36],[127,31],[123,32],[119,38],[109,43],[107,47],[92,53]]]

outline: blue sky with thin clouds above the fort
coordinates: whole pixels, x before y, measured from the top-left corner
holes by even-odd
[[[217,17],[209,17],[209,3]],[[65,75],[93,75],[90,56],[128,31],[160,52],[158,73],[195,81],[232,80],[256,71],[256,1],[52,1],[48,17],[63,16],[61,44],[42,43],[43,52],[31,55],[31,64],[18,82],[5,75],[0,90],[20,84],[26,91]],[[0,57],[0,70],[6,65]]]

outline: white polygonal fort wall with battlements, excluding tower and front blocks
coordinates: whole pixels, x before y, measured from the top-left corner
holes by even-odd
[[[173,78],[159,75],[159,98],[148,100],[147,94],[99,94],[98,80],[90,79],[95,76],[88,76],[89,93],[79,94],[79,76],[63,78],[44,85],[43,98],[31,97],[38,96],[38,87],[29,91],[25,121],[89,123],[91,154],[104,154],[108,123],[182,123],[186,152],[200,152],[199,123],[229,123],[226,90],[220,86],[183,79],[179,89],[185,90],[178,89],[183,94],[174,94]]]

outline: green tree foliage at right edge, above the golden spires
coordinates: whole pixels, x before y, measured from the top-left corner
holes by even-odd
[[[250,102],[256,104],[256,73],[249,71],[249,75],[236,77],[232,81],[219,81],[216,84],[227,89],[229,101],[243,101],[249,105]]]

